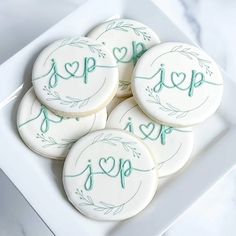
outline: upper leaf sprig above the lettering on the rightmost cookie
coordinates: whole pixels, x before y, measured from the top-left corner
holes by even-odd
[[[178,52],[190,60],[193,60],[195,58],[198,61],[199,66],[205,69],[206,74],[210,76],[212,75],[213,72],[210,70],[210,66],[209,66],[211,62],[208,60],[202,59],[199,53],[192,51],[191,48],[185,48],[183,45],[179,45],[172,48],[170,52]]]

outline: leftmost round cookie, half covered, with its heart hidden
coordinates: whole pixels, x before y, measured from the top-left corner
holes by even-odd
[[[72,144],[83,135],[106,125],[106,109],[80,118],[54,115],[31,88],[18,108],[17,127],[26,145],[42,156],[63,160]]]

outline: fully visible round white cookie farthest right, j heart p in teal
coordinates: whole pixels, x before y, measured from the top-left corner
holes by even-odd
[[[170,126],[192,126],[219,107],[223,79],[200,48],[163,43],[150,49],[134,70],[132,91],[141,109]]]

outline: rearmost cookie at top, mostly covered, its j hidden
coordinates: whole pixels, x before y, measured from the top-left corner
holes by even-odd
[[[110,49],[118,63],[120,81],[117,96],[130,96],[134,65],[147,49],[160,42],[158,36],[148,26],[129,19],[107,21],[95,27],[88,36]]]

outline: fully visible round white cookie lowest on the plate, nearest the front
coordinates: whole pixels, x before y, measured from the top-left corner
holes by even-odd
[[[74,144],[63,169],[65,192],[85,216],[124,220],[142,211],[158,185],[150,151],[135,136],[107,129]]]

